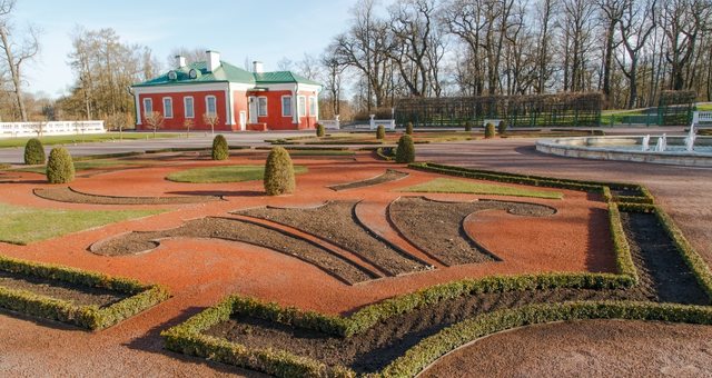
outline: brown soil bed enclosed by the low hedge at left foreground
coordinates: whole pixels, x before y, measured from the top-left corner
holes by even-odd
[[[96,305],[105,307],[128,297],[127,295],[112,290],[73,285],[53,279],[18,275],[8,271],[0,271],[0,287],[26,290],[40,296],[67,300],[79,306]]]

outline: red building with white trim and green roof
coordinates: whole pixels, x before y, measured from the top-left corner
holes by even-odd
[[[216,131],[300,130],[318,120],[322,86],[290,71],[254,72],[220,60],[206,51],[206,61],[176,68],[158,78],[131,86],[136,101],[136,129],[150,130],[147,115],[162,116],[162,130],[210,130],[205,116],[217,116]],[[215,117],[214,117],[215,118]]]

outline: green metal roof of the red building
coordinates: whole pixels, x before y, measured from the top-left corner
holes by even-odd
[[[197,70],[199,73],[195,79],[190,79],[188,72],[191,69]],[[176,72],[176,79],[170,80],[168,77],[170,72]],[[190,84],[190,83],[204,83],[204,82],[243,82],[250,84],[276,84],[298,82],[304,84],[320,86],[320,83],[309,80],[305,77],[298,76],[289,71],[276,71],[276,72],[261,72],[251,73],[241,68],[235,67],[228,62],[220,61],[214,72],[208,72],[207,63],[204,61],[190,63],[186,67],[171,70],[157,78],[134,84],[134,87],[156,87],[156,86],[175,86],[175,84]]]

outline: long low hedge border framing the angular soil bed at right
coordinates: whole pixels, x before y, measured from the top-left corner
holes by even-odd
[[[642,186],[560,180],[468,170],[442,165],[415,163],[409,165],[409,167],[468,178],[602,193],[609,203],[611,236],[620,273],[544,273],[493,276],[478,280],[461,280],[386,299],[367,306],[349,317],[304,311],[295,307],[283,308],[277,304],[267,304],[255,298],[231,296],[216,307],[209,308],[186,322],[164,331],[161,336],[166,340],[166,347],[175,351],[244,366],[281,377],[295,375],[354,377],[356,372],[343,366],[329,367],[315,359],[296,356],[284,350],[250,349],[235,342],[202,335],[201,332],[221,321],[228,320],[233,314],[240,314],[340,337],[350,337],[396,315],[422,306],[433,306],[442,300],[464,295],[553,288],[627,288],[636,285],[639,277],[630,253],[630,246],[623,230],[620,211],[654,212],[673,239],[700,285],[712,298],[712,273],[705,261],[694,251],[672,219],[659,207],[650,205],[653,202],[653,197]],[[610,187],[629,190],[637,189],[642,196],[612,196]],[[617,203],[620,201],[627,202]],[[443,355],[479,337],[526,325],[582,319],[664,320],[712,325],[712,307],[634,301],[578,301],[528,305],[514,309],[498,310],[461,321],[421,340],[382,371],[369,376],[411,377]]]

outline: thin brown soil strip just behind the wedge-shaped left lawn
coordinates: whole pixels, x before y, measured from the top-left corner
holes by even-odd
[[[217,196],[187,196],[187,197],[113,197],[90,195],[67,188],[34,189],[37,197],[59,202],[89,203],[89,205],[186,205],[202,203],[221,200]]]

